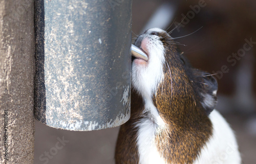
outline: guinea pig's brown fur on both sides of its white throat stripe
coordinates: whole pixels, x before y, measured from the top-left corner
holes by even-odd
[[[167,128],[156,135],[155,144],[167,162],[192,163],[212,134],[211,122],[200,103],[200,93],[204,91],[200,83],[203,76],[194,77],[199,70],[183,64],[177,47],[172,44],[173,40],[166,34],[158,36],[166,47],[166,63],[164,80],[159,84],[153,102]],[[134,126],[141,118],[148,116],[141,114],[144,104],[134,90],[131,105],[131,119],[120,128],[116,163],[139,162],[137,129]]]

